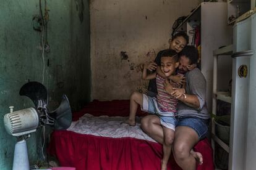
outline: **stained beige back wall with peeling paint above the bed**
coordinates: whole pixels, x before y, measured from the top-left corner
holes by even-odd
[[[145,91],[140,63],[169,47],[176,18],[199,1],[93,0],[90,2],[92,99],[129,99]]]

